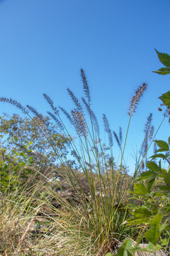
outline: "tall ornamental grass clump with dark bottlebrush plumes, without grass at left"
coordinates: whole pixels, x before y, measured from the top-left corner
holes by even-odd
[[[47,113],[60,127],[64,137],[68,138],[67,146],[70,154],[74,156],[74,162],[70,161],[62,148],[57,149],[54,142],[48,138],[47,120],[42,114],[29,105],[25,108],[11,99],[1,97],[0,101],[19,107],[30,119],[37,117],[36,124],[60,162],[57,174],[62,181],[52,181],[52,187],[47,184],[44,186],[50,198],[57,202],[58,207],[53,208],[53,211],[57,216],[57,225],[60,227],[58,230],[64,233],[64,238],[61,238],[62,246],[60,249],[56,247],[55,253],[99,256],[106,255],[106,252],[114,252],[120,241],[135,233],[132,228],[122,225],[128,217],[128,210],[125,208],[128,200],[127,191],[132,189],[133,181],[124,164],[124,153],[130,119],[147,89],[147,84],[143,83],[135,91],[130,102],[128,112],[130,118],[124,144],[122,129],[120,128],[118,137],[111,131],[106,114],[103,114],[104,130],[108,135],[107,146],[102,143],[98,119],[91,108],[91,95],[84,70],[81,70],[81,80],[84,88],[84,97],[81,100],[72,90],[67,90],[74,103],[74,108],[70,112],[63,107],[55,107],[52,99],[44,94],[51,108]],[[67,117],[66,124],[62,114]],[[74,134],[70,134],[70,125],[74,128]],[[77,138],[73,139],[74,136]],[[116,164],[114,160],[113,136],[120,148],[120,164],[118,162]],[[147,149],[148,141],[145,140],[145,149]],[[137,166],[137,171],[140,170],[140,164]]]

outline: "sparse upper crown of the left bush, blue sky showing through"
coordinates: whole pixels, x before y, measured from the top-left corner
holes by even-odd
[[[1,147],[8,154],[19,152],[20,161],[26,161],[26,156],[31,156],[37,164],[52,164],[58,160],[56,151],[60,151],[60,155],[67,154],[69,138],[59,131],[60,127],[53,124],[49,117],[43,117],[43,122],[38,117],[29,119],[18,114],[0,117]]]

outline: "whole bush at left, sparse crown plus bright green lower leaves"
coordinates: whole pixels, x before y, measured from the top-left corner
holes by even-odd
[[[47,175],[47,172],[56,169],[58,157],[54,148],[60,151],[61,155],[67,154],[69,139],[58,133],[59,127],[50,122],[49,118],[44,117],[43,120],[42,124],[38,123],[36,117],[30,120],[18,114],[13,114],[12,117],[4,114],[0,117],[1,192],[17,189],[26,183],[31,175],[36,175],[39,180],[38,170],[41,174]],[[43,129],[43,134],[40,129]],[[48,136],[48,141],[45,134]],[[52,141],[53,148],[49,141]]]

